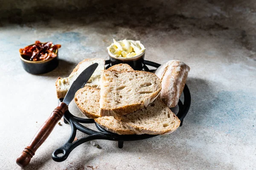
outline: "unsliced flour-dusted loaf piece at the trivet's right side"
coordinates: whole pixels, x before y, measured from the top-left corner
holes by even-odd
[[[175,107],[178,104],[189,70],[189,66],[182,61],[171,60],[155,71],[162,84],[159,96],[168,107]]]

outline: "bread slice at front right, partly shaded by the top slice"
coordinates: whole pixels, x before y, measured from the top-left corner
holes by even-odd
[[[172,133],[180,126],[180,119],[160,98],[143,109],[119,116],[122,124],[137,134],[158,135]]]

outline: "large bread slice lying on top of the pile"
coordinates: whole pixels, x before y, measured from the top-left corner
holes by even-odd
[[[157,98],[160,90],[160,79],[153,73],[103,70],[100,115],[115,117],[147,107]]]

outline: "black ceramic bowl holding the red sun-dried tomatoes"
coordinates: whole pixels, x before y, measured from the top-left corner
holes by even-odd
[[[29,46],[33,46],[29,45]],[[58,66],[58,49],[55,50],[55,54],[57,57],[50,58],[49,60],[45,61],[29,61],[25,59],[25,56],[20,55],[20,61],[22,63],[23,68],[26,70],[26,72],[29,72],[31,74],[44,74],[47,72],[52,71]]]

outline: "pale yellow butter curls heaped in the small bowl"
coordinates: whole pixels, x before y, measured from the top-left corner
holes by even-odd
[[[132,58],[145,51],[145,47],[140,41],[126,39],[121,41],[113,39],[113,41],[107,49],[114,57]]]

